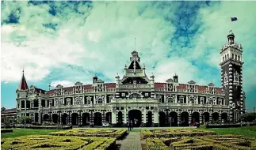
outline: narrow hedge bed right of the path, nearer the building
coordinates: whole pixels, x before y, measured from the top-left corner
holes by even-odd
[[[207,131],[203,129],[155,129],[155,130],[142,130],[140,136],[143,139],[148,137],[194,137],[215,135],[214,131]]]

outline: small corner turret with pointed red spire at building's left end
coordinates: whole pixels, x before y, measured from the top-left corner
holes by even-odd
[[[28,87],[27,81],[25,80],[24,70],[23,70],[20,84],[18,85],[16,90],[17,110],[21,110],[21,105],[22,107],[25,108],[25,100],[27,99],[28,91],[29,91],[29,87]]]

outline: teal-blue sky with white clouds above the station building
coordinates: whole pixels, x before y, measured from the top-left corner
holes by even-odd
[[[232,29],[243,45],[246,107],[256,107],[256,2],[3,2],[1,105],[16,107],[22,69],[48,89],[124,74],[136,50],[147,75],[220,87],[220,49]],[[238,21],[231,22],[230,17]],[[135,47],[136,38],[136,47]]]

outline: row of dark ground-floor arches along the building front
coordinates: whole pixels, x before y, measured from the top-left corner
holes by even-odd
[[[144,115],[143,115],[144,114]],[[178,114],[175,111],[159,111],[159,115],[155,112],[142,112],[139,110],[130,110],[125,114],[117,111],[113,118],[112,112],[73,112],[63,114],[44,114],[43,122],[53,122],[63,125],[71,124],[73,126],[89,126],[90,122],[94,126],[101,126],[102,122],[109,122],[115,126],[125,126],[128,121],[132,121],[136,127],[139,126],[189,126],[191,122],[227,122],[228,115],[226,112],[219,114],[218,112],[204,112],[200,114],[197,111],[189,113],[182,111]],[[113,122],[114,120],[114,122]],[[115,122],[116,121],[116,122]]]

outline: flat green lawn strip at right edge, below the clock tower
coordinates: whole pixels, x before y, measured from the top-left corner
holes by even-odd
[[[244,126],[241,128],[212,128],[207,129],[219,134],[236,134],[246,137],[256,137],[256,126]]]

